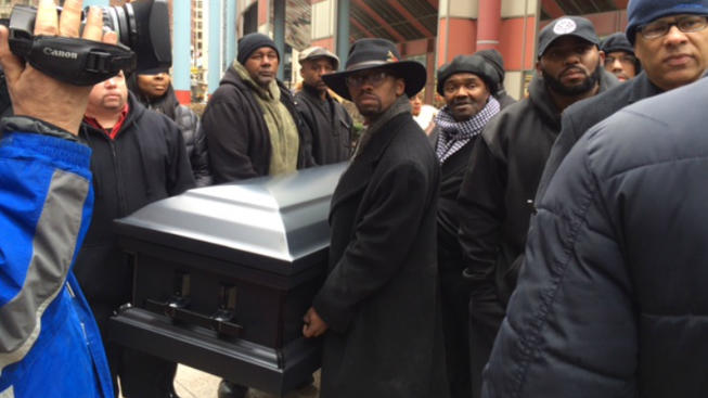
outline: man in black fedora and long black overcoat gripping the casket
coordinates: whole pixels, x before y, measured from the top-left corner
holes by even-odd
[[[409,97],[425,67],[361,39],[324,75],[366,130],[332,197],[329,274],[305,314],[324,336],[321,397],[448,397],[436,261],[435,153]]]

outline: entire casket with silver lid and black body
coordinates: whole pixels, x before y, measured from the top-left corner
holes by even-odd
[[[309,380],[320,345],[302,316],[344,167],[195,189],[116,220],[134,277],[110,338],[275,395]]]

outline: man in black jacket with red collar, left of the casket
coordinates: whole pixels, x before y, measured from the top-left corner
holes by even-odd
[[[93,86],[80,136],[93,150],[95,204],[75,271],[106,342],[114,385],[120,375],[126,397],[172,397],[176,364],[110,344],[106,326],[113,311],[130,301],[132,284],[113,220],[194,187],[182,134],[128,93],[121,73]]]

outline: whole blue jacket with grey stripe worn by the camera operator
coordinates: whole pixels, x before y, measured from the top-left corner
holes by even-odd
[[[113,397],[72,266],[91,218],[91,150],[18,132],[0,141],[0,396]]]

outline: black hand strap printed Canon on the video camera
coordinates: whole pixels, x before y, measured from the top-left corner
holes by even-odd
[[[123,44],[106,44],[78,38],[10,35],[12,52],[33,67],[57,80],[76,86],[93,86],[136,68],[136,54]]]

